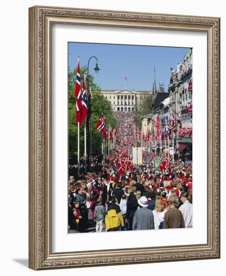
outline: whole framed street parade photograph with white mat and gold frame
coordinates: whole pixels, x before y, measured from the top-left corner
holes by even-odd
[[[220,257],[219,45],[219,18],[29,9],[30,268]]]

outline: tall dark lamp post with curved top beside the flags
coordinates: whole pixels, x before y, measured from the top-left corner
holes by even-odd
[[[88,90],[88,114],[87,114],[87,166],[88,170],[91,170],[91,160],[92,160],[92,123],[91,123],[91,93],[89,87],[89,65],[92,58],[96,59],[96,67],[94,68],[95,73],[100,71],[98,67],[98,59],[95,56],[90,57],[87,67],[87,90]]]

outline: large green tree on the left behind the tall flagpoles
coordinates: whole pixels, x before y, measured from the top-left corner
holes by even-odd
[[[82,67],[81,86],[83,83],[84,73],[87,72],[87,67]],[[77,68],[68,73],[68,144],[69,157],[78,154],[78,124],[76,122],[76,98],[74,97],[74,88],[76,83]],[[87,78],[86,78],[87,87]],[[102,133],[96,129],[97,122],[103,112],[105,122],[108,128],[116,126],[116,119],[113,116],[111,103],[101,94],[100,87],[94,82],[94,77],[89,75],[89,87],[91,87],[91,122],[92,122],[92,154],[101,152],[101,135]],[[87,91],[88,93],[88,91]],[[80,154],[84,154],[84,126],[85,122],[80,127]]]

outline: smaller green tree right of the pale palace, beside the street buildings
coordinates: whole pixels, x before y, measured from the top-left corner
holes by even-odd
[[[153,112],[152,95],[145,95],[143,99],[135,105],[135,123],[140,129],[142,126],[142,116]]]

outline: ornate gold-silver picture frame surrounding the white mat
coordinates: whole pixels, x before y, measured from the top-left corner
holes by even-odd
[[[207,243],[52,252],[52,24],[207,35]],[[29,267],[35,270],[220,257],[220,19],[56,7],[29,9]]]

